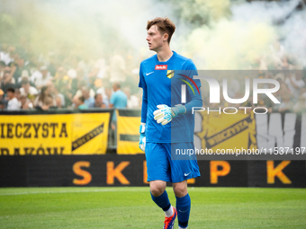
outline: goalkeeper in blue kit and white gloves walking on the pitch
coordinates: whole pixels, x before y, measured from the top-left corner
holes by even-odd
[[[148,21],[147,31],[148,48],[157,54],[142,61],[139,69],[139,87],[143,89],[139,147],[146,154],[151,198],[165,211],[164,228],[174,228],[176,216],[179,228],[187,228],[191,207],[187,180],[200,176],[199,166],[195,156],[173,160],[173,155],[175,149],[194,148],[192,108],[202,107],[201,83],[193,81],[197,75],[193,61],[169,47],[173,22],[155,18]],[[188,89],[185,95],[181,94],[182,84]],[[184,105],[181,98],[185,98]],[[173,183],[175,207],[167,196],[166,182]]]

